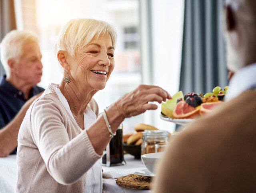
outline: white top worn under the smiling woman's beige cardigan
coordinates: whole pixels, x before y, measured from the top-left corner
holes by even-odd
[[[56,94],[58,95],[61,103],[64,105],[68,113],[73,117],[75,120],[67,99],[64,97],[62,92],[59,88],[53,87]],[[87,105],[86,110],[84,112],[84,129],[87,129],[94,123],[96,120],[96,114],[92,111],[92,109]],[[82,131],[82,129],[81,129]],[[86,172],[86,182],[85,182],[85,189],[84,192],[91,192],[91,193],[102,193],[103,185],[102,185],[102,159],[98,159],[96,163]]]

